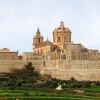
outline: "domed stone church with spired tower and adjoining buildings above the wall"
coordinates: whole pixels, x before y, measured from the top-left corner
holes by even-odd
[[[100,59],[98,50],[85,48],[82,44],[75,44],[71,41],[71,31],[61,22],[53,31],[53,42],[43,41],[39,29],[33,37],[33,53],[49,56],[51,59],[68,60],[97,60]],[[57,55],[56,55],[57,54]],[[56,55],[56,57],[54,57]]]

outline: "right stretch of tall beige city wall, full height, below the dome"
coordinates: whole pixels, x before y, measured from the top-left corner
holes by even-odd
[[[100,81],[100,60],[46,60],[43,68],[44,74],[57,79]]]

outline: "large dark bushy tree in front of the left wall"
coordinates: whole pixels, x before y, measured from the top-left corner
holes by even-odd
[[[6,84],[3,83],[4,87],[30,87],[34,86],[35,83],[38,83],[38,80],[41,79],[41,75],[35,71],[32,63],[29,62],[22,69],[12,69],[10,73],[6,74],[7,81]]]

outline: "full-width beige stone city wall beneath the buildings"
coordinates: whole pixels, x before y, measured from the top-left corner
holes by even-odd
[[[1,60],[0,73],[21,69],[28,62],[24,60]],[[100,60],[31,60],[36,70],[57,79],[100,81]]]

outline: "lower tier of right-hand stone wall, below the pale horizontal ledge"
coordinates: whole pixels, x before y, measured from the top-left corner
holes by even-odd
[[[100,81],[100,69],[89,70],[55,70],[46,69],[45,74],[51,74],[51,77],[62,80],[70,80],[72,77],[77,80]]]

